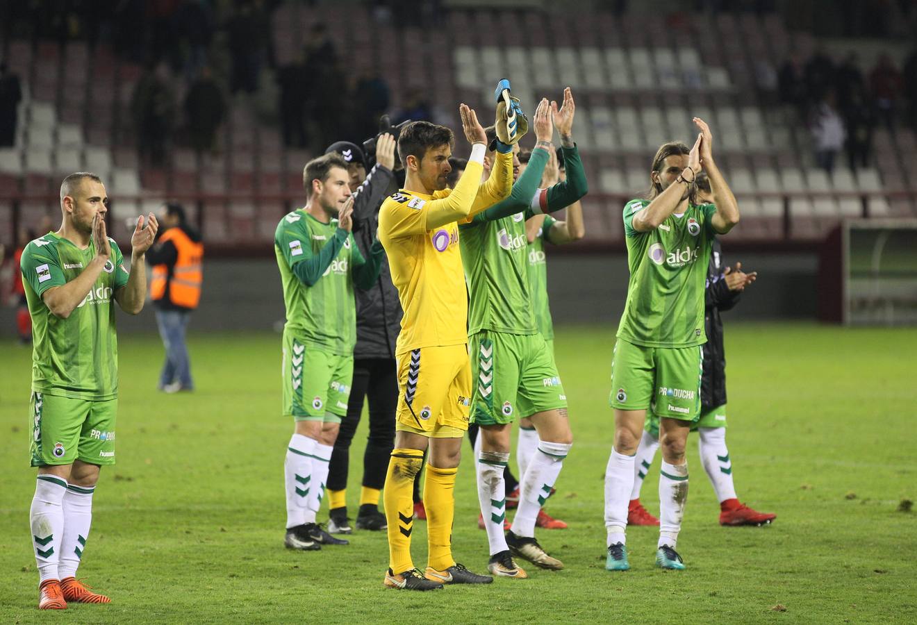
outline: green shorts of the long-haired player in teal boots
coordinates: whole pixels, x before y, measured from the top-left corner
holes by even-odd
[[[623,411],[697,421],[701,412],[702,346],[644,347],[619,338],[609,403]]]

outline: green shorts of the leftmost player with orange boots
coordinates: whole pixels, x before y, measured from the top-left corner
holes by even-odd
[[[115,464],[117,399],[74,400],[32,393],[29,401],[32,466]]]

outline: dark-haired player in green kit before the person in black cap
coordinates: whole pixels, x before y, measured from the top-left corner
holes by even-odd
[[[305,207],[285,215],[274,235],[281,271],[283,414],[295,422],[284,462],[284,544],[313,551],[347,544],[324,531],[315,514],[353,378],[357,313],[353,287],[369,289],[385,253],[378,240],[363,258],[354,243],[348,163],[337,153],[306,163]]]

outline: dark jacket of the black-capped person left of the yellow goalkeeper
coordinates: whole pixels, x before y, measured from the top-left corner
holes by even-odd
[[[376,164],[354,193],[353,237],[365,258],[379,228],[382,201],[397,188],[394,174]],[[388,258],[382,258],[379,279],[369,291],[357,290],[357,345],[354,358],[394,358],[401,329],[401,302],[392,284]]]

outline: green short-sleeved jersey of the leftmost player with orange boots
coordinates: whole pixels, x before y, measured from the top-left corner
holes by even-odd
[[[32,390],[77,400],[117,397],[115,292],[129,276],[121,250],[108,239],[112,255],[98,280],[66,319],[51,314],[42,296],[83,273],[95,246],[80,249],[50,232],[26,246],[20,268],[32,317]]]

